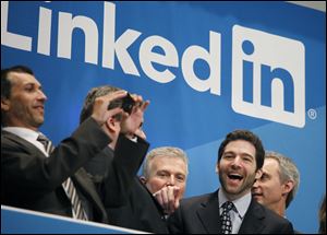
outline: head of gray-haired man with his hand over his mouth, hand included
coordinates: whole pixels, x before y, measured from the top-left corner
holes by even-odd
[[[179,148],[161,146],[146,155],[141,180],[157,199],[166,215],[175,211],[184,195],[187,164],[186,154]]]

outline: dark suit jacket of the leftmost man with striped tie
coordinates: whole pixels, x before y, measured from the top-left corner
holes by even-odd
[[[1,131],[1,203],[72,216],[71,202],[61,186],[71,176],[90,219],[107,223],[107,213],[96,186],[81,167],[109,142],[108,136],[92,118],[84,121],[72,137],[63,140],[49,157],[28,141]],[[120,157],[114,162],[116,165],[128,162],[124,156],[130,160],[126,151],[140,153],[135,143],[129,143],[132,141],[123,139],[120,142],[121,145],[128,143],[128,146],[118,148],[117,154]],[[141,148],[141,152],[145,153],[147,146]],[[109,188],[110,184],[107,181],[99,184],[101,197],[106,199],[104,202],[112,207],[124,203],[123,198],[116,197],[119,200],[112,201],[106,196],[111,192],[123,193],[123,184],[129,184],[132,179],[128,174],[121,177],[118,175],[119,187],[113,189]]]

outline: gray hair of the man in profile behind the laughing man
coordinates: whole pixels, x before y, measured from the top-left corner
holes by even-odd
[[[287,157],[277,152],[266,151],[265,158],[274,158],[278,162],[280,169],[279,177],[281,183],[284,183],[287,180],[292,180],[294,183],[294,187],[289,192],[286,200],[286,208],[288,208],[291,201],[294,199],[300,186],[299,169],[290,157]]]

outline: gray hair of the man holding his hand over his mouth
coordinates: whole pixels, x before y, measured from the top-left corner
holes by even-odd
[[[182,160],[185,165],[186,165],[186,176],[189,174],[189,160],[186,156],[186,153],[179,149],[179,148],[174,148],[174,146],[161,146],[161,148],[156,148],[154,150],[152,150],[145,157],[145,162],[143,164],[143,176],[145,178],[149,177],[150,174],[150,162],[152,160],[154,160],[155,157],[158,156],[168,156],[168,157],[177,157]]]

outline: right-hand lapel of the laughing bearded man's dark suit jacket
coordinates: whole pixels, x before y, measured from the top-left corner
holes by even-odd
[[[244,215],[239,234],[259,234],[264,228],[262,221],[265,219],[263,209],[252,198],[251,204]]]

